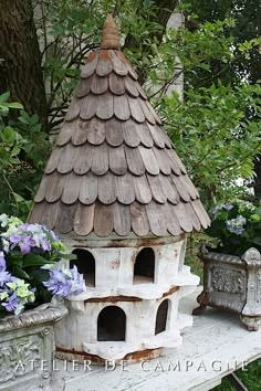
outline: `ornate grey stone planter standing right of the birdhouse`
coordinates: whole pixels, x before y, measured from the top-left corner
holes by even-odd
[[[202,250],[203,290],[194,315],[207,306],[223,308],[240,315],[248,330],[261,325],[261,254],[249,249],[241,257]]]

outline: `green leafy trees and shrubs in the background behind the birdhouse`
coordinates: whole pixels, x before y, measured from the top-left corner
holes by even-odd
[[[15,36],[8,43],[0,39],[0,212],[27,216],[50,155],[49,134],[63,120],[80,68],[88,52],[98,47],[108,12],[121,30],[122,50],[137,68],[206,208],[234,198],[261,198],[259,1],[184,0],[185,28],[178,31],[166,28],[176,0],[0,2],[1,36]],[[17,22],[14,18],[8,23],[10,17],[17,17]],[[34,45],[21,41],[17,50],[19,38],[24,40],[22,25]],[[24,60],[23,47],[31,46],[34,53]],[[7,61],[10,52],[12,62]],[[34,85],[25,66],[30,62],[42,70]],[[15,65],[24,77],[20,74],[17,84],[7,86],[1,75],[10,71],[15,77],[11,68]],[[166,96],[181,72],[182,102],[177,94]],[[31,80],[29,89],[21,80]],[[45,85],[45,92],[36,88],[43,95],[41,109],[27,99],[40,84]],[[25,92],[19,103],[13,91],[18,85]],[[249,196],[252,186],[254,194]],[[202,234],[189,239],[188,256],[197,270],[201,239]],[[253,379],[258,368],[250,373]],[[254,380],[249,384],[251,390],[260,389]]]

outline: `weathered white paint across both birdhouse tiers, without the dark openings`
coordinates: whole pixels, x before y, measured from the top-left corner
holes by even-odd
[[[119,360],[127,353],[153,348],[171,348],[181,344],[180,330],[191,326],[191,317],[179,316],[179,299],[189,294],[199,283],[184,265],[186,242],[174,241],[148,246],[155,254],[154,283],[148,277],[135,276],[134,263],[145,247],[125,240],[125,246],[105,247],[103,241],[95,241],[98,247],[88,247],[95,258],[95,287],[72,296],[66,300],[69,315],[55,329],[56,346],[65,350],[83,351],[104,359]],[[71,247],[75,249],[71,242]],[[79,249],[85,249],[81,243]],[[86,275],[86,281],[88,276]],[[178,290],[170,289],[177,287]],[[102,300],[118,297],[116,303]],[[139,300],[121,300],[119,296],[136,297]],[[101,302],[85,303],[90,298]],[[155,336],[156,316],[159,305],[169,300],[166,330]],[[125,341],[97,341],[97,319],[107,306],[118,306],[126,315]]]

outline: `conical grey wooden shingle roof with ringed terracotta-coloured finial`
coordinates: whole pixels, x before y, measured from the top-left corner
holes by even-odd
[[[209,225],[107,17],[88,55],[29,221],[63,234],[178,235]]]

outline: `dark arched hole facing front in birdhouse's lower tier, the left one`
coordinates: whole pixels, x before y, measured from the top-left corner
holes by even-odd
[[[97,318],[98,341],[124,341],[126,315],[116,306],[107,306],[101,310]]]

